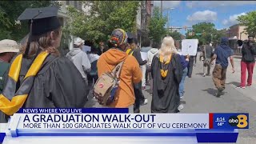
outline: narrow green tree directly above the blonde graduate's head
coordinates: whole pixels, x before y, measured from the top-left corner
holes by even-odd
[[[152,41],[160,43],[162,37],[166,35],[165,25],[167,18],[162,17],[159,7],[154,7],[153,16],[150,19],[149,37]]]

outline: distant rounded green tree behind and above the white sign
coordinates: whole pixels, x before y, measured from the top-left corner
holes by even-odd
[[[189,35],[194,32],[194,35]],[[202,35],[205,33],[205,35]],[[197,35],[198,34],[198,35]],[[201,34],[201,35],[199,35]],[[211,35],[212,34],[212,35]],[[206,44],[206,42],[214,41],[217,34],[214,23],[211,22],[200,22],[192,26],[192,30],[188,30],[186,33],[187,39],[198,39],[199,44]]]

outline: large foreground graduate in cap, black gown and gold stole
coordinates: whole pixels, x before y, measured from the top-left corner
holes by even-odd
[[[19,108],[82,108],[89,93],[73,62],[60,57],[62,38],[58,8],[26,9],[18,18],[29,20],[30,34],[10,66],[0,95],[0,122]],[[33,21],[31,21],[33,19]]]

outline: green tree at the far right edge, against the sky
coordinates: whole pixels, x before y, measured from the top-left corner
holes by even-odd
[[[256,11],[250,11],[246,15],[238,17],[238,22],[242,26],[246,26],[246,34],[252,34],[256,36]]]

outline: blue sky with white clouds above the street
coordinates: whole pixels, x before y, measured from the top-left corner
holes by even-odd
[[[161,1],[154,1],[154,6],[160,5]],[[222,30],[237,24],[239,15],[256,10],[256,1],[162,1],[162,6],[163,15],[169,13],[169,26],[213,22],[217,30]]]

